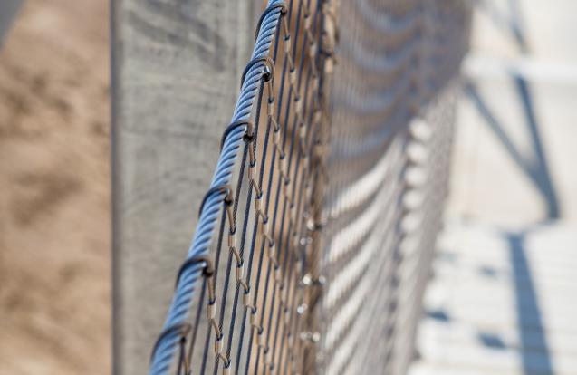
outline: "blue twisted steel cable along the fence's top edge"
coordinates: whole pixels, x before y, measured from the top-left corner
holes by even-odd
[[[274,5],[282,3],[282,0],[269,0],[267,8],[272,8]],[[276,6],[264,17],[255,41],[252,54],[253,60],[268,55],[270,46],[273,43],[274,34],[276,33],[280,14],[281,9]],[[238,101],[236,101],[232,121],[247,120],[250,117],[263,74],[264,62],[255,63],[248,72],[246,72],[245,82],[242,85]],[[245,130],[238,127],[230,131],[226,137],[210,187],[230,184],[236,156],[243,142],[244,135]],[[208,248],[214,235],[216,221],[225,196],[225,192],[219,192],[207,198],[198,219],[192,245],[190,245],[188,249],[188,259],[208,254]],[[183,270],[168,310],[168,317],[164,323],[163,332],[170,327],[187,322],[195,285],[197,284],[198,277],[202,274],[203,268],[203,264],[195,264]],[[168,373],[173,358],[177,353],[179,340],[180,337],[177,331],[166,334],[161,338],[150,361],[150,375],[164,375]]]

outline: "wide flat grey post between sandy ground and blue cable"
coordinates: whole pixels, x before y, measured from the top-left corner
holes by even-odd
[[[250,56],[258,3],[112,0],[115,374],[147,372]]]

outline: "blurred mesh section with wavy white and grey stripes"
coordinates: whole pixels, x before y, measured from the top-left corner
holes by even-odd
[[[465,2],[340,3],[320,373],[403,374],[447,196]]]

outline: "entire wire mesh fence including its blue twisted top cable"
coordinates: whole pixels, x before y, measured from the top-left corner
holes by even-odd
[[[406,370],[468,17],[268,2],[150,373]]]

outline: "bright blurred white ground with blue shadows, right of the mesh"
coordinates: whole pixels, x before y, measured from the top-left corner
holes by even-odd
[[[577,374],[577,2],[475,4],[411,373]]]

